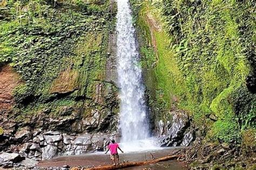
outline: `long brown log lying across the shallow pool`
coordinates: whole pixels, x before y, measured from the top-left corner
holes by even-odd
[[[121,169],[121,168],[133,167],[133,166],[156,164],[157,162],[178,159],[180,157],[183,157],[183,155],[169,155],[169,156],[154,159],[154,160],[147,160],[147,161],[140,161],[140,162],[125,162],[125,163],[122,163],[122,164],[118,164],[116,166],[107,165],[107,166],[100,166],[100,167],[88,168],[88,169],[89,170]]]

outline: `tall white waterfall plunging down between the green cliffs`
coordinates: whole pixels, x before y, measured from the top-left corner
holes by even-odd
[[[120,87],[120,147],[125,152],[159,149],[149,138],[149,121],[144,101],[142,69],[136,48],[129,0],[117,0],[117,58]]]

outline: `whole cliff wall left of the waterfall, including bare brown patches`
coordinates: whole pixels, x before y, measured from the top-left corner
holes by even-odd
[[[22,126],[68,133],[116,130],[110,119],[118,111],[117,86],[109,74],[114,72],[110,37],[116,4],[1,5],[0,126],[5,132],[14,134]]]

